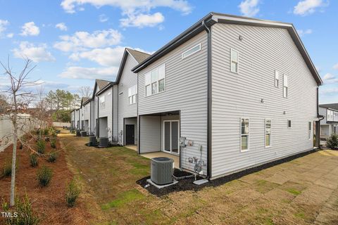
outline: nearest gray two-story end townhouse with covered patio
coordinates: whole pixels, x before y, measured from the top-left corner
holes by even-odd
[[[313,149],[323,82],[290,23],[209,13],[132,71],[138,153],[216,178]]]

